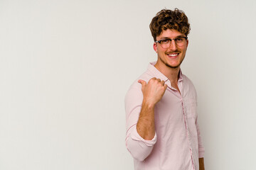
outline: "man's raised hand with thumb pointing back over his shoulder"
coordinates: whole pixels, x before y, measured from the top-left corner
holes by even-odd
[[[139,79],[138,82],[142,84],[143,102],[149,104],[150,106],[155,106],[156,103],[161,100],[167,88],[164,81],[156,79],[156,77],[150,79],[148,84],[146,84],[146,81],[141,79]]]

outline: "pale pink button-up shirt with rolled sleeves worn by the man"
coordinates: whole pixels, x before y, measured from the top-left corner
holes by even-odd
[[[136,128],[143,100],[142,85],[138,79],[125,96],[126,145],[134,157],[134,167],[136,170],[198,170],[198,158],[203,157],[204,148],[197,122],[196,89],[180,71],[180,94],[171,86],[171,81],[154,67],[155,63],[149,64],[139,77],[146,82],[156,77],[168,86],[155,106],[156,132],[152,140],[144,140]]]

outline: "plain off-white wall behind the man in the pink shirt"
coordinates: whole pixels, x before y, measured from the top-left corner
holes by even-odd
[[[133,169],[124,95],[162,8],[191,23],[206,169],[256,169],[255,7],[244,1],[0,1],[0,169]]]

